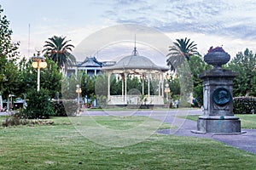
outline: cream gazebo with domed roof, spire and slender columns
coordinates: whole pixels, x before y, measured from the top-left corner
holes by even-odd
[[[132,54],[120,59],[115,65],[104,67],[102,71],[108,74],[108,105],[164,105],[164,73],[169,69],[155,65],[147,57],[137,53],[135,47]],[[122,80],[122,94],[110,95],[110,77],[119,75]],[[127,92],[127,78],[141,77],[142,94]],[[148,79],[148,93],[144,94],[144,80]],[[150,94],[150,81],[158,82],[158,94]],[[139,89],[136,90],[139,92]],[[147,91],[147,90],[146,90]]]

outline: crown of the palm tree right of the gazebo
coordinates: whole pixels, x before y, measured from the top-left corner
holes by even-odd
[[[170,66],[171,71],[175,71],[177,66],[183,64],[185,59],[189,61],[191,55],[199,54],[196,48],[197,44],[195,44],[194,41],[189,42],[190,39],[187,37],[185,37],[185,39],[176,39],[176,41],[177,42],[173,42],[173,46],[169,47],[170,53],[166,55],[169,57],[166,62],[167,65]]]

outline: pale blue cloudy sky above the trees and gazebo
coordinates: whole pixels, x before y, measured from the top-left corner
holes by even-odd
[[[91,35],[99,36],[96,32],[104,30],[100,36],[103,38],[106,28],[123,24],[147,26],[170,38],[170,42],[163,43],[166,51],[150,52],[147,49],[154,44],[143,43],[142,31],[130,31],[131,40],[136,34],[137,49],[142,55],[159,53],[165,58],[168,44],[184,37],[194,41],[202,55],[211,46],[223,46],[231,57],[246,48],[256,52],[254,0],[0,0],[0,4],[10,20],[13,41],[20,42],[20,54],[26,57],[32,56],[35,48],[43,48],[49,37],[67,37],[77,48]],[[126,47],[126,43],[119,43],[119,47],[116,43],[115,39],[113,46],[109,45],[111,42],[102,44],[105,48],[99,47],[91,55],[108,60],[110,46],[119,50],[109,59],[131,54],[134,42],[125,50],[119,47]]]

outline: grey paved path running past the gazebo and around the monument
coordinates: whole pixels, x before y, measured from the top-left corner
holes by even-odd
[[[162,122],[167,122],[174,125],[175,129],[160,130],[159,133],[174,134],[178,136],[193,136],[197,138],[215,139],[229,144],[241,150],[247,150],[256,154],[256,130],[255,129],[241,129],[241,134],[200,134],[191,133],[191,130],[196,130],[196,122],[183,119],[177,116],[186,115],[201,115],[201,110],[170,110],[170,111],[90,111],[84,112],[82,115],[90,116],[149,116],[158,119]]]

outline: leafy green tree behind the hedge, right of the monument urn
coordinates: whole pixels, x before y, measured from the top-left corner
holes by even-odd
[[[244,53],[236,54],[228,68],[238,73],[234,79],[234,96],[256,96],[256,54],[247,48]]]

